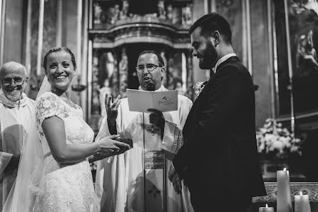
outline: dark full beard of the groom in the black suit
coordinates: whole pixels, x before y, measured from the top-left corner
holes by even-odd
[[[205,51],[201,54],[199,61],[200,69],[212,69],[217,62],[217,51],[212,43],[208,42]]]

